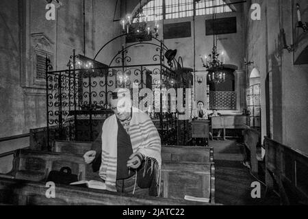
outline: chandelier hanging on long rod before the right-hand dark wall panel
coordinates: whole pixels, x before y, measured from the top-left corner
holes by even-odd
[[[214,5],[214,1],[213,1]],[[224,61],[221,61],[219,59],[219,53],[217,52],[217,38],[216,38],[216,30],[215,30],[215,21],[216,21],[216,8],[213,8],[213,49],[211,50],[211,53],[208,55],[205,55],[205,62],[203,61],[203,57],[201,57],[201,61],[203,63],[203,67],[207,68],[207,78],[208,81],[214,82],[214,83],[222,83],[225,80],[225,73],[223,72],[224,68]],[[224,52],[222,51],[222,55],[224,55]]]

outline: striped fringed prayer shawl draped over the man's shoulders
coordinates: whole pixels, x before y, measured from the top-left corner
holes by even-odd
[[[117,168],[117,135],[118,123],[116,115],[112,115],[103,123],[101,135],[101,167],[99,176],[105,180],[107,190],[116,192],[116,168]],[[151,159],[151,170],[155,168],[155,179],[160,190],[160,170],[162,166],[161,140],[151,118],[133,107],[131,122],[129,124],[129,136],[133,153],[142,153],[147,164]],[[146,168],[144,168],[146,170]],[[157,192],[159,194],[159,192]]]

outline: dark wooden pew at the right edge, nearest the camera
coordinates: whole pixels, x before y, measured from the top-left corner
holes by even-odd
[[[264,139],[266,146],[266,190],[278,185],[281,203],[284,205],[308,205],[308,155]]]

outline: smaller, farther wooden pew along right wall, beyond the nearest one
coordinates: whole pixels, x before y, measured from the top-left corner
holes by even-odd
[[[254,175],[258,174],[258,159],[257,159],[257,145],[259,143],[259,133],[251,127],[245,126],[243,130],[244,145],[249,149],[251,153],[251,172]]]

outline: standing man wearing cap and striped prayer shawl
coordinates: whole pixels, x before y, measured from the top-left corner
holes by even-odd
[[[114,115],[103,123],[101,141],[94,141],[85,162],[99,170],[107,190],[159,196],[162,145],[156,127],[147,114],[131,107],[129,90],[116,88],[110,103]]]

